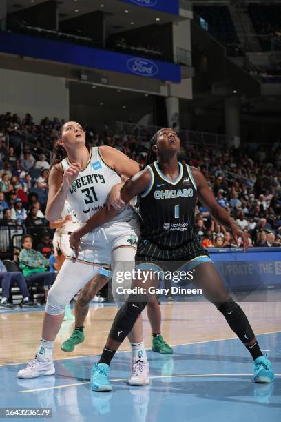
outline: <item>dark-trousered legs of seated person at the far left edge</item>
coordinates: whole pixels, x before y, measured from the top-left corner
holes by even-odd
[[[30,300],[28,286],[26,285],[23,274],[20,271],[8,272],[6,266],[0,259],[0,285],[2,285],[1,308],[11,309],[16,307],[16,305],[9,301],[10,290],[14,283],[17,283],[21,290],[21,294],[23,295],[23,299],[21,300],[21,303],[19,303],[19,306],[21,306],[21,308],[32,308],[37,306],[36,303]]]

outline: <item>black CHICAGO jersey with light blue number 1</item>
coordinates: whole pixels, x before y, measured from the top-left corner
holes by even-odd
[[[147,166],[151,182],[140,195],[141,239],[168,250],[180,248],[196,237],[196,184],[189,165],[178,166],[175,181],[160,172],[157,161]]]

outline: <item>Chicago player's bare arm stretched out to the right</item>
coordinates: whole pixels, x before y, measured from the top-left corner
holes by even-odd
[[[236,223],[234,223],[233,219],[231,219],[230,215],[224,210],[224,208],[218,205],[216,198],[209,188],[204,175],[196,168],[192,168],[191,171],[197,185],[197,196],[200,202],[205,205],[214,219],[216,219],[222,225],[226,225],[228,228],[230,228],[233,234],[233,239],[237,244],[238,237],[242,237],[243,251],[247,250],[249,247],[249,234],[242,232],[242,230],[240,230]]]

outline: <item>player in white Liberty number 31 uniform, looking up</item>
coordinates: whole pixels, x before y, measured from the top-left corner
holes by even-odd
[[[111,188],[121,183],[119,174],[132,177],[139,170],[135,161],[114,148],[102,146],[87,149],[85,132],[76,122],[63,125],[56,147],[65,158],[61,160],[62,157],[54,157],[54,165],[50,170],[46,208],[49,221],[59,220],[67,199],[76,212],[79,225],[85,223],[97,210],[106,206]],[[63,321],[65,305],[102,267],[109,267],[111,263],[114,272],[117,263],[127,261],[134,268],[138,233],[138,217],[126,205],[110,223],[81,239],[77,257],[75,252],[67,256],[48,294],[42,338],[36,357],[19,371],[19,378],[54,374],[52,351]],[[128,287],[130,285],[131,281]],[[136,321],[130,336],[133,344],[130,383],[145,385],[149,383],[149,368],[143,345],[141,318]]]

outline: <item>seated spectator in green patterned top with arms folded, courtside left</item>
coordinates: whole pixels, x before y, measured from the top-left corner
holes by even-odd
[[[46,271],[49,268],[49,260],[34,249],[32,249],[32,237],[25,234],[22,237],[22,250],[19,254],[19,268],[21,268],[25,280],[31,285],[39,283],[45,288],[45,297],[48,290],[54,283],[56,274]]]

